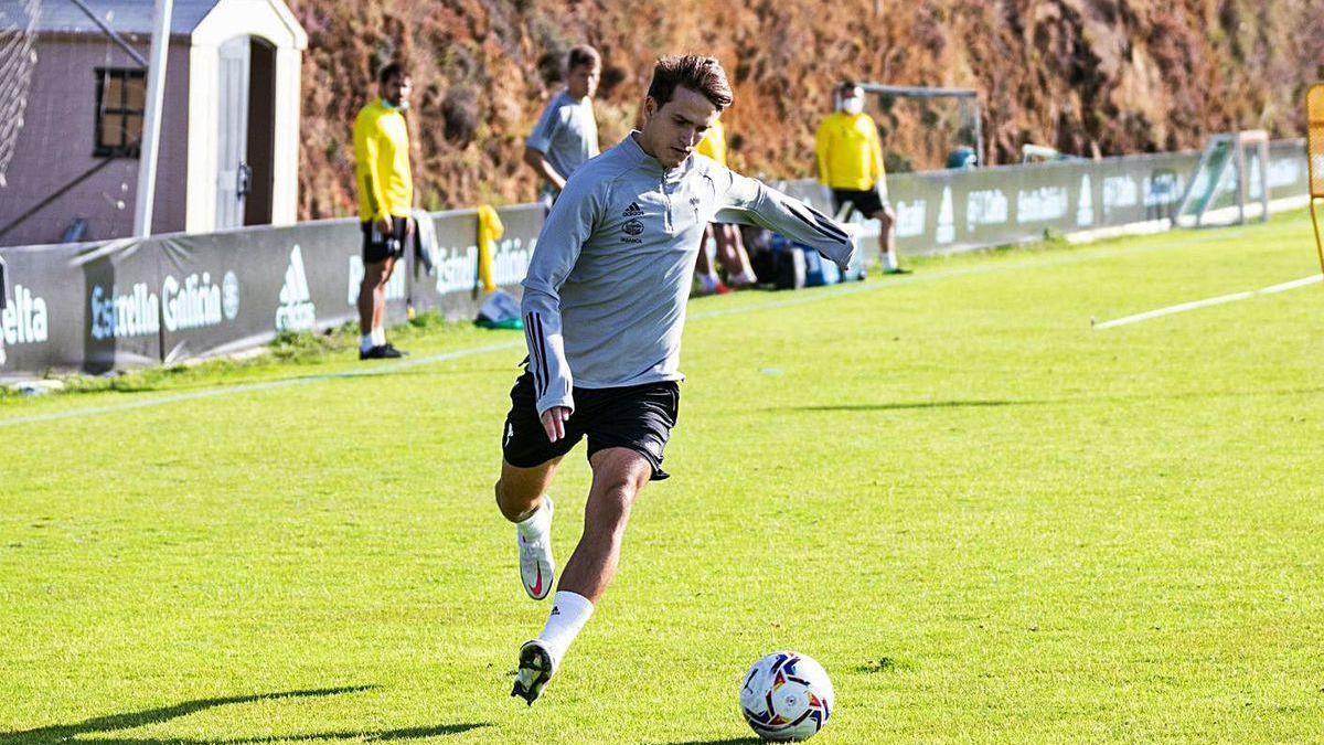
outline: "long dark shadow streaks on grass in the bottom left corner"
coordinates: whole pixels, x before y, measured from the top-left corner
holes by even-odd
[[[385,742],[391,740],[414,740],[421,737],[437,737],[442,734],[458,734],[479,726],[482,724],[444,724],[437,726],[414,726],[404,729],[389,729],[384,732],[316,732],[308,734],[271,734],[266,737],[240,737],[216,740],[188,740],[173,737],[168,740],[134,738],[134,737],[105,737],[122,729],[134,729],[159,724],[173,718],[184,717],[214,707],[229,704],[250,704],[254,701],[267,701],[274,699],[306,699],[314,696],[336,696],[340,693],[357,693],[372,691],[376,685],[351,685],[342,688],[312,688],[307,691],[282,691],[278,693],[257,693],[253,696],[225,696],[221,699],[197,699],[184,701],[172,707],[158,709],[144,709],[123,715],[110,715],[83,720],[78,724],[41,726],[19,732],[0,733],[0,745],[58,745],[58,744],[91,744],[91,745],[248,745],[256,742],[270,742],[271,740],[319,741],[319,740],[365,740],[369,742]]]

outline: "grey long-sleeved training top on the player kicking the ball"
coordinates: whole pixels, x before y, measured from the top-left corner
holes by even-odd
[[[679,380],[681,330],[703,228],[761,225],[846,268],[846,231],[808,204],[702,155],[667,171],[628,135],[581,166],[538,237],[524,334],[538,412],[573,387]]]

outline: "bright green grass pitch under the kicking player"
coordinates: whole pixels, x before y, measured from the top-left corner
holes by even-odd
[[[1317,272],[1307,217],[916,268],[690,305],[674,477],[532,708],[519,333],[0,399],[0,745],[743,742],[779,648],[824,745],[1324,741],[1324,285],[1090,325]]]

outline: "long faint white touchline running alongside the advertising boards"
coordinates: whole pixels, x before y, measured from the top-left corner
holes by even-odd
[[[1158,244],[1158,245],[1155,245],[1155,247],[1145,247],[1145,248],[1136,248],[1136,247],[1106,247],[1106,248],[1099,248],[1099,249],[1076,249],[1076,251],[1072,251],[1068,255],[1057,256],[1057,257],[1047,257],[1046,258],[1046,257],[1042,257],[1042,256],[1037,256],[1037,257],[1030,257],[1030,258],[1025,258],[1025,260],[1021,260],[1021,261],[1006,261],[1006,262],[1002,262],[1002,264],[993,264],[993,265],[965,266],[965,268],[957,268],[957,269],[947,269],[947,270],[929,272],[929,273],[924,273],[924,274],[910,274],[910,276],[906,276],[906,277],[888,278],[884,282],[833,285],[833,286],[829,286],[829,288],[822,288],[822,289],[816,290],[813,293],[806,293],[806,294],[792,297],[792,298],[773,300],[773,301],[768,301],[768,302],[759,302],[759,304],[752,304],[752,305],[745,305],[745,306],[736,306],[736,308],[723,308],[723,309],[704,310],[704,312],[699,312],[699,313],[691,314],[690,315],[690,321],[703,321],[706,318],[720,318],[720,317],[724,317],[724,315],[737,315],[737,314],[744,314],[744,313],[759,313],[761,310],[780,310],[782,308],[792,308],[792,306],[796,306],[796,305],[804,305],[804,304],[809,304],[809,302],[820,302],[820,301],[826,301],[826,300],[834,300],[834,298],[838,298],[838,297],[853,296],[853,294],[858,294],[858,293],[863,293],[863,292],[892,289],[892,288],[896,288],[899,285],[923,284],[923,282],[932,282],[932,281],[939,281],[939,280],[968,277],[968,276],[977,276],[977,274],[993,274],[993,273],[1001,273],[1001,272],[1016,272],[1016,270],[1023,270],[1023,269],[1037,269],[1037,268],[1046,268],[1046,266],[1059,266],[1059,265],[1063,265],[1063,264],[1080,264],[1080,262],[1092,261],[1092,260],[1096,260],[1096,258],[1112,258],[1112,257],[1123,256],[1123,255],[1127,255],[1127,253],[1137,253],[1140,251],[1151,252],[1151,251],[1156,251],[1156,249],[1182,248],[1182,247],[1188,247],[1188,245],[1192,245],[1192,244],[1210,243],[1210,241],[1214,241],[1214,240],[1227,240],[1229,237],[1231,237],[1231,236],[1229,236],[1229,232],[1231,232],[1231,231],[1223,232],[1221,235],[1207,235],[1207,236],[1198,236],[1198,237],[1193,237],[1193,239],[1181,239],[1181,240],[1165,241],[1162,244]],[[1319,277],[1307,277],[1307,278],[1308,280],[1317,280]],[[1288,284],[1291,284],[1291,282],[1288,282]],[[1267,292],[1267,290],[1262,290],[1262,292]],[[1275,292],[1280,292],[1280,290],[1275,290]],[[1110,321],[1110,323],[1116,323],[1116,321]],[[461,350],[448,351],[448,353],[442,353],[442,354],[433,354],[433,355],[428,355],[428,357],[420,357],[420,358],[416,358],[416,359],[404,359],[404,361],[400,361],[400,362],[379,363],[379,365],[375,365],[371,369],[346,370],[346,371],[340,371],[340,372],[323,372],[323,374],[316,374],[316,375],[301,375],[301,376],[297,376],[297,378],[279,378],[279,379],[275,379],[275,380],[262,380],[262,382],[257,382],[257,383],[241,383],[241,384],[237,384],[237,386],[224,386],[224,387],[211,388],[211,390],[205,390],[205,391],[189,391],[189,392],[183,392],[183,394],[169,394],[169,395],[164,395],[164,396],[147,398],[147,399],[131,400],[131,402],[124,402],[124,403],[115,403],[115,404],[109,404],[109,406],[93,406],[93,407],[86,407],[86,408],[70,408],[70,410],[65,410],[65,411],[53,411],[53,412],[49,412],[49,414],[34,414],[34,415],[29,415],[29,416],[15,416],[15,418],[11,418],[11,419],[0,419],[0,428],[13,427],[13,426],[19,426],[19,424],[34,424],[34,423],[40,423],[40,422],[56,422],[56,420],[61,420],[61,419],[78,419],[78,418],[83,418],[83,416],[97,416],[97,415],[102,415],[102,414],[115,414],[115,412],[123,412],[123,411],[132,411],[132,410],[138,410],[138,408],[148,408],[148,407],[154,407],[154,406],[164,406],[164,404],[169,404],[169,403],[181,403],[181,402],[189,402],[189,400],[199,400],[199,399],[226,396],[226,395],[232,395],[232,394],[245,394],[245,392],[252,392],[252,391],[269,391],[269,390],[273,390],[273,388],[287,388],[287,387],[295,387],[295,386],[306,386],[306,384],[312,384],[312,383],[322,383],[322,382],[326,382],[326,380],[336,380],[336,379],[346,379],[346,378],[359,378],[359,376],[365,376],[365,375],[387,375],[387,374],[395,372],[397,370],[404,370],[404,369],[409,369],[409,367],[417,367],[420,365],[432,365],[432,363],[437,363],[437,362],[450,362],[453,359],[462,359],[462,358],[466,358],[466,357],[474,357],[474,355],[486,354],[486,353],[490,353],[490,351],[507,351],[507,350],[515,350],[515,349],[524,349],[524,341],[523,339],[520,339],[520,341],[510,341],[510,342],[495,343],[495,345],[485,345],[485,346],[471,347],[471,349],[461,349]]]

